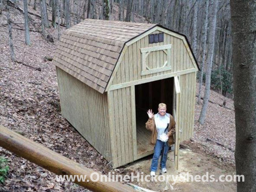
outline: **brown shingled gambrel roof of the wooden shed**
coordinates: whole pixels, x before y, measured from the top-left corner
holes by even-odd
[[[155,26],[86,19],[63,33],[53,63],[104,93],[125,43]]]

